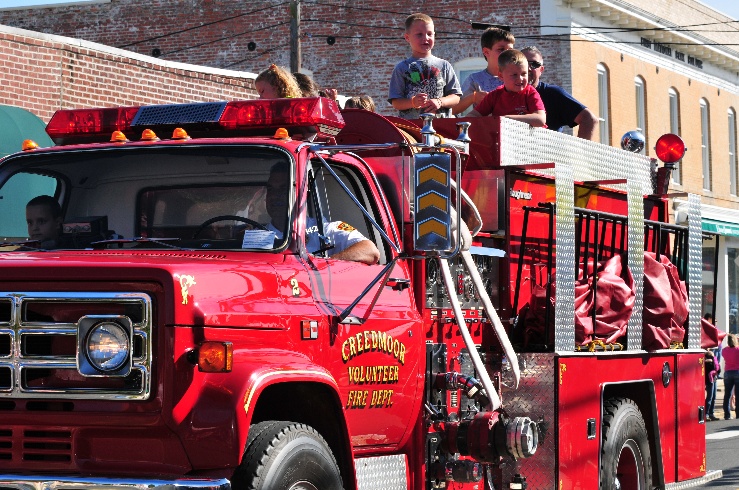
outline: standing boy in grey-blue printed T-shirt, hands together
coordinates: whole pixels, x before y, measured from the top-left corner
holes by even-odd
[[[462,94],[451,63],[431,54],[434,36],[434,21],[428,15],[412,14],[405,20],[411,57],[395,65],[388,96],[404,119],[416,119],[424,112],[451,117],[451,108]]]

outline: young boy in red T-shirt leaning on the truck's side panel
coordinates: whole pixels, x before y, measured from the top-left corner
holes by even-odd
[[[469,113],[475,116],[506,116],[534,127],[546,127],[544,103],[529,85],[529,64],[518,50],[509,49],[498,57],[498,77],[503,85],[489,92]]]

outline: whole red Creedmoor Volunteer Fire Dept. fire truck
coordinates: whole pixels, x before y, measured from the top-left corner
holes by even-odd
[[[707,478],[699,200],[668,223],[669,165],[322,98],[47,132],[0,162],[0,487]]]

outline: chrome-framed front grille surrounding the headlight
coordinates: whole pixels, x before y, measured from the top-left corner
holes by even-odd
[[[0,403],[3,398],[148,399],[151,304],[143,293],[0,293]],[[77,370],[78,322],[89,315],[131,320],[128,375],[83,376]]]

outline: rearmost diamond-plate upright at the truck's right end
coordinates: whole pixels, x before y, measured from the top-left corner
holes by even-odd
[[[701,198],[688,194],[688,349],[701,347],[702,247]]]

